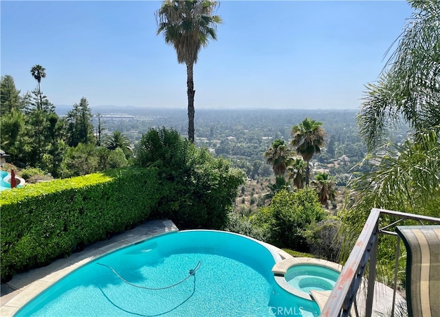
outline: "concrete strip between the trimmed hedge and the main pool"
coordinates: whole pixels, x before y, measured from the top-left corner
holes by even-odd
[[[128,245],[174,231],[179,229],[173,221],[145,221],[132,230],[115,234],[109,240],[92,243],[83,251],[71,254],[67,259],[58,259],[45,267],[16,274],[10,281],[1,284],[0,316],[14,316],[32,298],[85,263]]]

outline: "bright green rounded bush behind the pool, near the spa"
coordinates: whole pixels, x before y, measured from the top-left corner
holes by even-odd
[[[303,188],[294,193],[280,190],[270,206],[262,208],[254,219],[257,226],[268,232],[269,242],[279,248],[307,250],[305,230],[325,218],[316,192]]]

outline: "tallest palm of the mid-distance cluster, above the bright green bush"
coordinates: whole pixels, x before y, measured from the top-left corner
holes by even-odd
[[[305,184],[309,186],[310,166],[309,161],[315,153],[321,153],[326,133],[322,129],[322,122],[305,118],[303,122],[292,127],[291,145],[296,153],[301,155],[307,166],[305,168]]]

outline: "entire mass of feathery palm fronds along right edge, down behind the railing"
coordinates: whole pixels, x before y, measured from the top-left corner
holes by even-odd
[[[347,186],[352,195],[340,214],[342,254],[371,208],[440,217],[440,1],[408,3],[411,18],[379,80],[367,85],[358,115],[370,151],[359,165],[368,172]],[[412,127],[412,138],[388,144],[387,131],[400,120]],[[384,224],[394,220],[381,218]],[[393,267],[395,240],[382,239],[377,267]]]

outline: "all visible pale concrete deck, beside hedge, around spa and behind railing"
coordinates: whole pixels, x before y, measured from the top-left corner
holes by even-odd
[[[28,272],[16,274],[11,281],[1,284],[0,316],[14,316],[14,314],[16,314],[21,307],[23,307],[36,295],[40,294],[44,289],[50,287],[60,278],[69,274],[73,270],[76,270],[81,265],[93,261],[103,254],[113,252],[114,250],[118,250],[119,248],[123,248],[127,245],[131,245],[139,241],[144,241],[145,239],[155,237],[159,234],[164,234],[166,232],[173,232],[177,230],[179,229],[175,226],[173,221],[170,220],[146,221],[140,224],[140,226],[133,228],[132,230],[128,230],[120,234],[115,234],[109,240],[87,245],[87,247],[83,251],[71,254],[67,259],[58,259],[45,267],[40,267],[37,269],[29,270]],[[326,266],[337,265],[336,263],[332,264],[331,262],[317,259],[294,258],[293,256],[287,254],[283,250],[274,247],[273,245],[271,245],[271,248],[276,250],[276,252],[278,252],[278,254],[283,259],[283,263],[277,263],[274,266],[274,273],[281,274],[285,272],[292,264],[298,262],[326,263]],[[364,309],[364,307],[362,307],[364,299],[361,299],[363,293],[364,292],[362,292],[362,289],[360,290],[360,292],[358,292],[358,305],[360,306],[360,311]],[[318,298],[316,298],[316,301],[320,305],[323,305],[325,304],[325,301],[327,301],[327,298],[325,298],[325,296],[328,296],[328,294],[320,295],[322,296],[320,296],[319,300]],[[393,290],[390,287],[386,287],[382,283],[375,283],[373,311],[382,311],[384,313],[390,311],[392,298]],[[401,298],[401,296],[397,294],[397,301],[399,300],[403,300],[403,298]],[[373,314],[373,316],[377,315]]]

